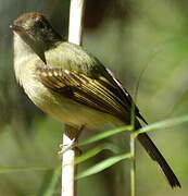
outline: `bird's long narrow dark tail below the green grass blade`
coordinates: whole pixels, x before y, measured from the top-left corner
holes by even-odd
[[[167,164],[166,160],[164,157],[161,155],[160,150],[156,148],[156,146],[153,144],[151,138],[146,134],[139,134],[137,136],[138,140],[141,143],[143,148],[147,150],[148,155],[159,163],[161,167],[164,175],[166,176],[170,185],[173,187],[179,186],[180,183],[177,180],[176,175],[174,174],[173,170],[171,167]]]

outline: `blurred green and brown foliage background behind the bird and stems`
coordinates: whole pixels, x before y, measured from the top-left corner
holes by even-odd
[[[55,169],[60,166],[57,152],[62,140],[62,124],[39,111],[16,84],[9,25],[24,12],[39,11],[66,38],[68,7],[70,0],[0,0],[0,167]],[[145,70],[137,105],[149,123],[188,113],[187,10],[188,1],[184,0],[87,0],[84,47],[110,68],[131,95]],[[187,125],[150,134],[183,188],[172,191],[138,145],[137,195],[188,195]],[[95,133],[84,132],[83,138]],[[128,151],[128,145],[118,136],[111,140]],[[102,152],[79,168],[85,170],[109,156],[111,154]],[[0,196],[45,195],[51,185],[52,169],[0,173]],[[80,180],[79,195],[129,195],[128,169],[129,161],[122,161]],[[60,195],[60,180],[51,195]]]

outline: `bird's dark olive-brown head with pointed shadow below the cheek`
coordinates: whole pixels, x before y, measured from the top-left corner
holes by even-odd
[[[11,29],[45,60],[45,51],[50,49],[62,37],[53,29],[48,20],[40,13],[29,12],[17,17]]]

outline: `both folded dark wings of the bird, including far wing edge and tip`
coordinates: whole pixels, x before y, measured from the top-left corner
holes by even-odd
[[[37,72],[40,82],[50,89],[129,122],[134,105],[131,97],[108,69],[103,65],[95,69],[91,77],[53,66],[38,66]],[[135,114],[147,123],[136,106]]]

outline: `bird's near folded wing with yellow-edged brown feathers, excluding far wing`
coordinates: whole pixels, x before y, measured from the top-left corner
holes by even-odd
[[[60,68],[37,68],[38,79],[51,90],[66,96],[96,110],[113,114],[128,121],[124,101],[118,97],[118,89],[108,81],[91,78],[83,73]]]

